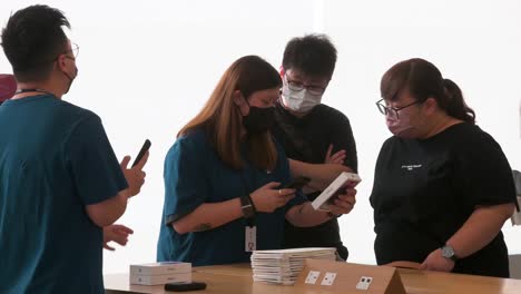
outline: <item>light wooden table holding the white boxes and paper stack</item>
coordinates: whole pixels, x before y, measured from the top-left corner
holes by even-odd
[[[193,280],[205,282],[205,291],[191,293],[237,293],[237,294],[316,294],[304,286],[282,286],[265,283],[254,283],[249,264],[216,265],[193,268]],[[416,270],[400,268],[400,276],[407,294],[520,294],[521,280],[495,278],[486,276],[472,276],[436,272],[421,272]],[[141,286],[130,285],[128,274],[105,276],[107,294],[121,293],[161,293],[163,285]],[[327,291],[321,293],[331,293]]]

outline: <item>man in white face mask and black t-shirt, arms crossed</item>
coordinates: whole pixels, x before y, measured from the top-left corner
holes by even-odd
[[[330,184],[341,171],[357,170],[350,120],[341,111],[322,104],[335,63],[336,49],[325,35],[294,38],[284,50],[283,87],[273,134],[291,158],[292,175],[312,178],[303,189],[309,200],[325,188],[317,185],[318,182]],[[326,174],[330,176],[318,179]],[[284,246],[336,247],[343,259],[348,255],[333,215],[330,222],[316,227],[286,224]]]

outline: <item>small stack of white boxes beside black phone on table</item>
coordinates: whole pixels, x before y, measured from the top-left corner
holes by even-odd
[[[130,265],[130,284],[160,285],[166,283],[191,283],[191,264],[163,262]]]

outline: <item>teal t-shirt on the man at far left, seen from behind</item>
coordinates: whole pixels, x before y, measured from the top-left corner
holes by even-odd
[[[0,293],[105,293],[86,205],[127,182],[94,112],[39,95],[0,106]]]

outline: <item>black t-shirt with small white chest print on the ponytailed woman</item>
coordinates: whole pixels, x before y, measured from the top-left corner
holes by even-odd
[[[476,206],[513,203],[515,190],[499,144],[478,126],[462,122],[424,140],[387,139],[376,161],[370,199],[376,262],[422,263]],[[502,233],[458,261],[453,272],[509,276]]]

